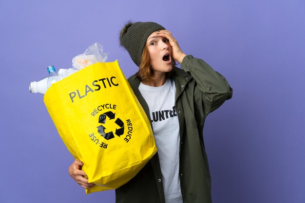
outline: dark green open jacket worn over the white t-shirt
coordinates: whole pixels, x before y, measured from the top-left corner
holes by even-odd
[[[184,203],[211,203],[211,180],[203,142],[206,116],[232,97],[226,78],[201,59],[187,55],[175,68],[176,111],[180,126],[180,185]],[[139,79],[128,79],[147,116],[149,107],[138,90]],[[116,203],[165,203],[158,154],[127,184],[115,190]]]

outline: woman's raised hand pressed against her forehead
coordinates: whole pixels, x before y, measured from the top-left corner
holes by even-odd
[[[172,57],[173,57],[173,59],[178,61],[179,63],[181,63],[183,58],[186,56],[186,54],[184,54],[181,51],[177,40],[174,37],[172,37],[172,33],[168,30],[159,30],[159,31],[157,31],[157,36],[158,37],[165,37],[169,40],[170,45],[172,46]]]

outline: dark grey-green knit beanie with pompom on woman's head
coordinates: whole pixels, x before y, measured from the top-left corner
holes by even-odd
[[[122,28],[120,45],[128,51],[137,66],[140,66],[147,38],[158,30],[165,30],[165,28],[155,22],[128,22]]]

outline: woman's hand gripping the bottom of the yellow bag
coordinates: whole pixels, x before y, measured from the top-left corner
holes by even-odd
[[[89,189],[93,187],[95,184],[88,183],[88,179],[84,176],[87,176],[86,173],[81,170],[81,166],[84,164],[79,161],[75,160],[72,165],[69,167],[69,174],[70,176],[76,181],[76,183],[80,186],[82,186],[85,189]]]

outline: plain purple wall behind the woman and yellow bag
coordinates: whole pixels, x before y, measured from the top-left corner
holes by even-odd
[[[129,19],[162,24],[234,90],[204,129],[213,202],[304,203],[304,0],[0,0],[0,202],[114,203],[70,178],[73,157],[28,84],[95,41],[130,76],[118,47]]]

